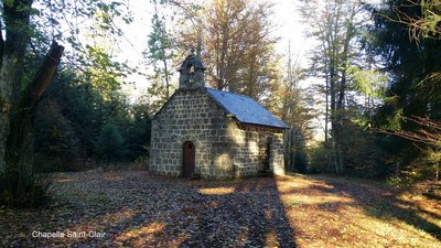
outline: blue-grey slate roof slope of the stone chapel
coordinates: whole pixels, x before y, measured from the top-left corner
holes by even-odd
[[[289,128],[283,121],[248,96],[206,88],[208,96],[225,111],[244,123]]]

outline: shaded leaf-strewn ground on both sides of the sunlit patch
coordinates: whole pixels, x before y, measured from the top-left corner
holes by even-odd
[[[103,176],[96,174],[60,182],[63,194],[78,194],[67,207],[53,207],[47,212],[23,215],[19,229],[28,234],[17,237],[17,228],[6,236],[15,235],[10,247],[295,247],[295,227],[287,216],[277,183],[289,177],[245,179],[232,181],[189,181],[142,173]],[[67,176],[69,177],[69,176]],[[441,229],[420,216],[422,209],[398,198],[399,192],[372,186],[366,182],[342,181],[325,176],[310,176],[319,182],[308,190],[352,201],[311,203],[321,211],[337,213],[341,207],[361,208],[378,219],[398,219],[424,230],[438,240]],[[83,186],[86,180],[95,180]],[[323,182],[323,183],[321,183]],[[72,190],[76,188],[76,190]],[[83,193],[98,196],[83,201]],[[103,194],[103,196],[100,195]],[[78,197],[79,196],[79,197]],[[437,218],[437,213],[431,214]],[[8,215],[6,215],[8,216]],[[13,219],[12,219],[13,220]],[[0,222],[2,223],[2,222]],[[3,222],[6,225],[6,220]],[[104,231],[105,238],[31,238],[35,226],[41,231],[78,230]],[[309,224],[311,225],[311,224]],[[372,231],[372,230],[366,230]],[[17,234],[15,234],[17,233]],[[29,244],[32,244],[30,246]],[[1,245],[1,244],[0,244]]]

